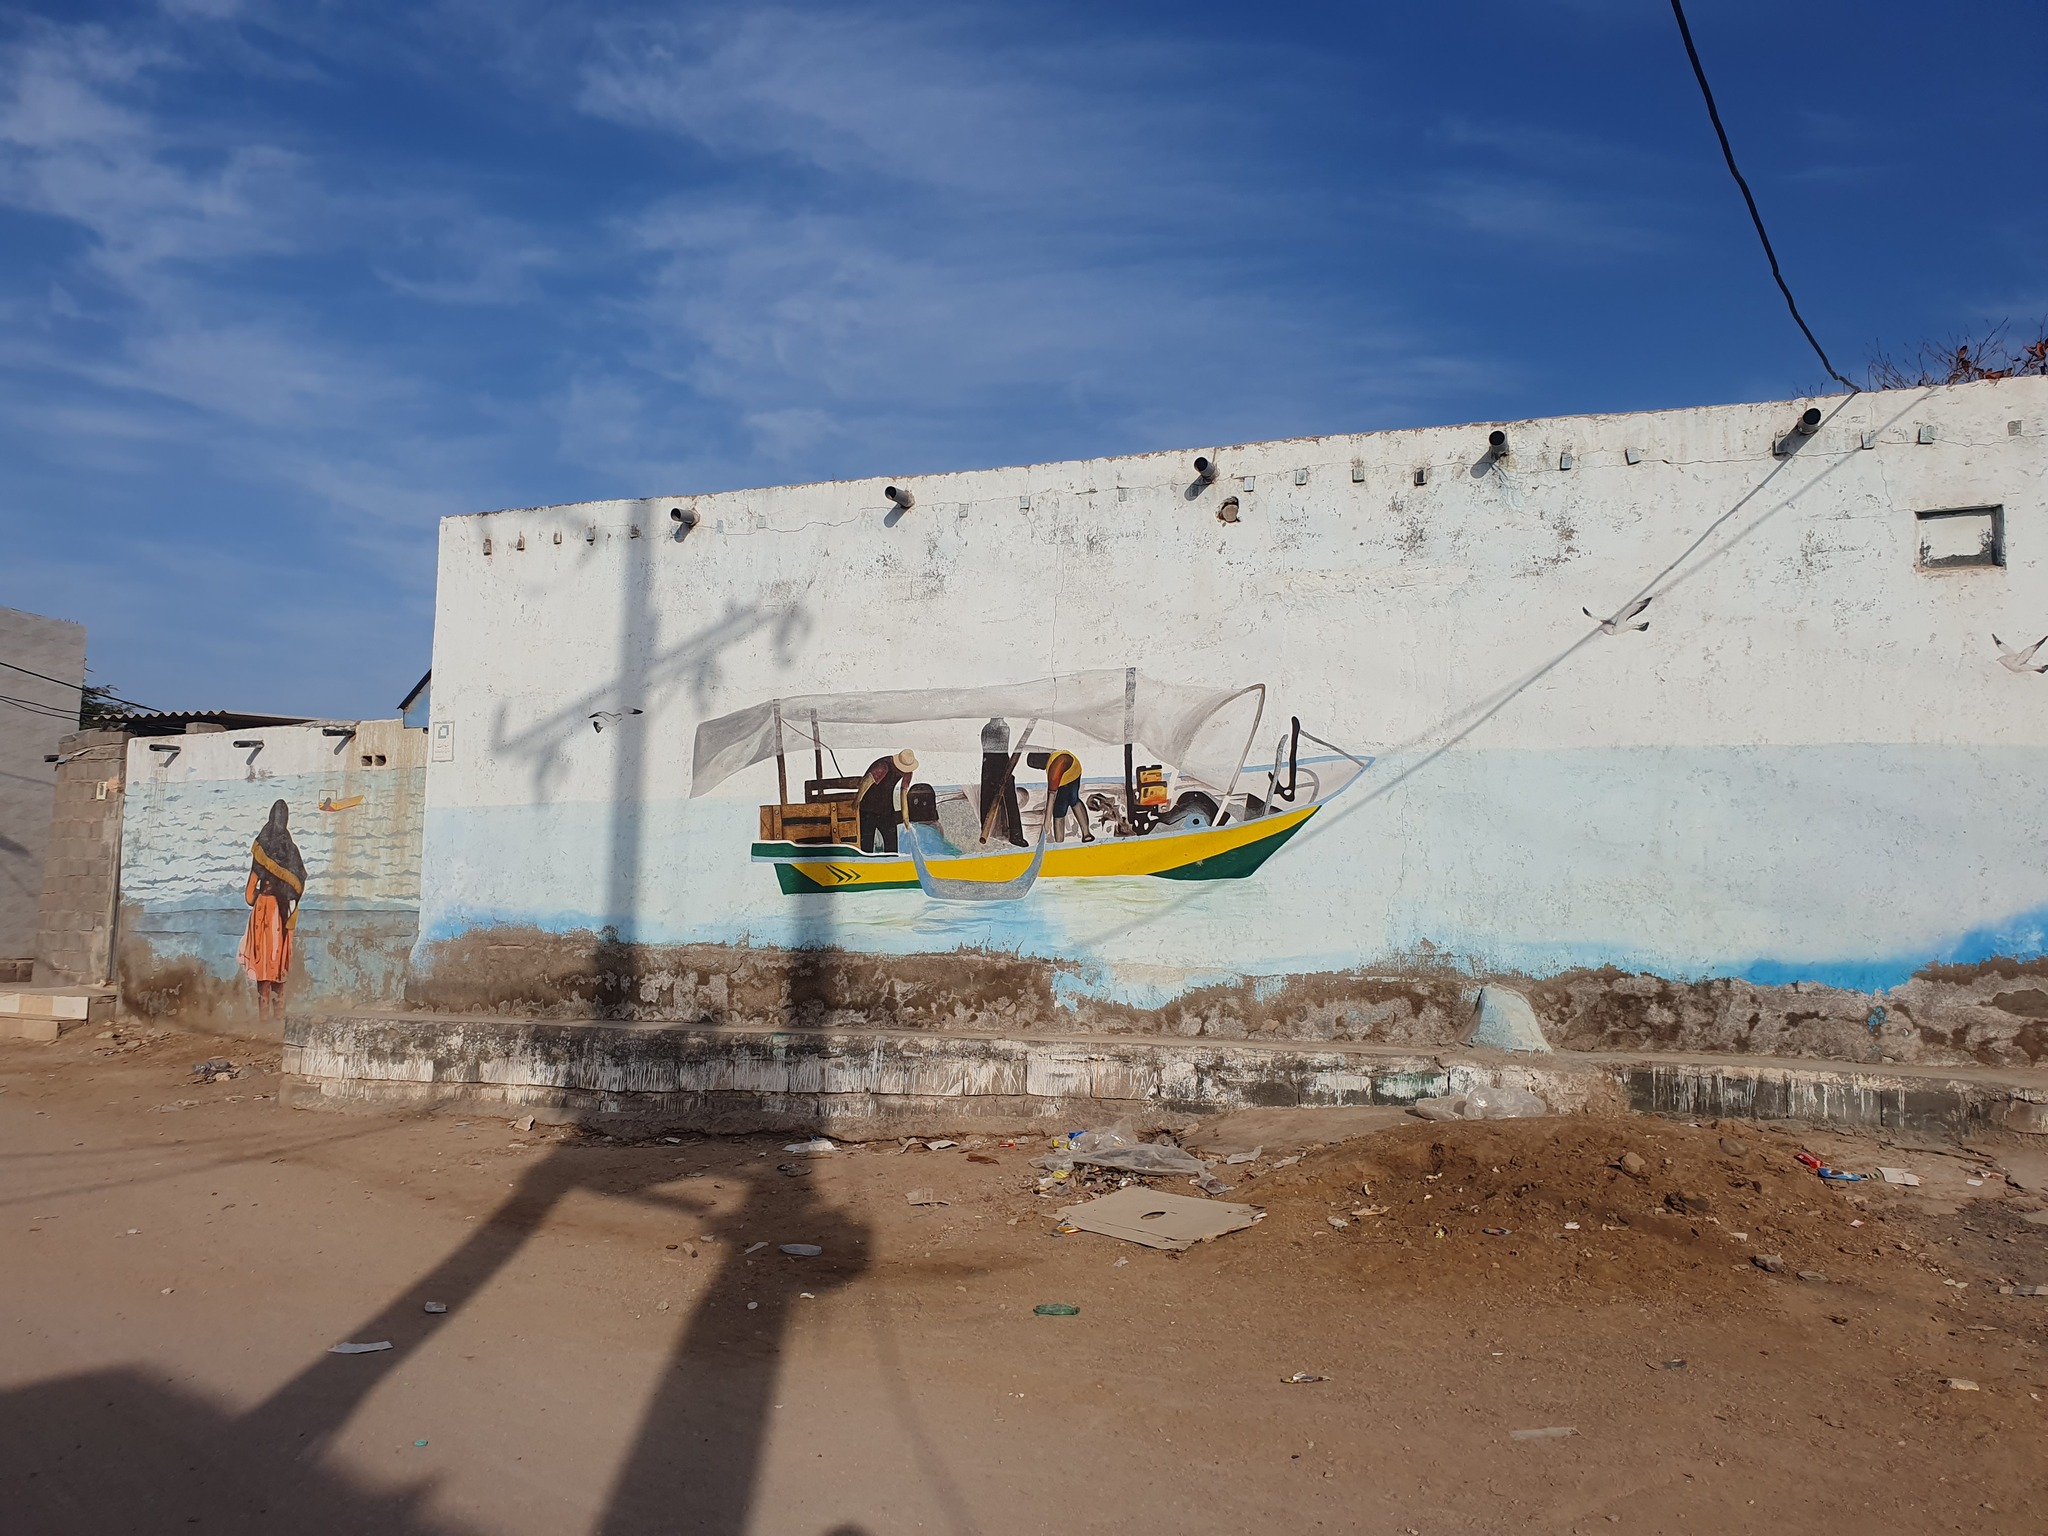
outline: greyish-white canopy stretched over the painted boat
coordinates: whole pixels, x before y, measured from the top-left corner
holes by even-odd
[[[1126,741],[1143,745],[1161,762],[1190,772],[1210,768],[1221,776],[1235,776],[1235,764],[1243,762],[1245,743],[1257,729],[1253,711],[1264,707],[1264,694],[1266,684],[1198,688],[1159,682],[1135,668],[1098,668],[985,688],[893,688],[770,698],[696,727],[690,795],[705,795],[776,752],[809,752],[813,721],[823,745],[874,743],[979,752],[981,725],[999,715],[1010,721],[1012,743],[1030,721],[1038,721],[1040,727],[1063,725],[1104,745],[1120,748]],[[1229,729],[1219,717],[1239,698],[1247,700],[1243,713],[1249,719]],[[885,725],[899,729],[889,733],[848,729]],[[1217,731],[1210,731],[1210,725],[1217,725]],[[1049,745],[1042,735],[1034,737],[1034,743]],[[1212,764],[1202,762],[1210,758]],[[1217,782],[1223,782],[1221,776]]]

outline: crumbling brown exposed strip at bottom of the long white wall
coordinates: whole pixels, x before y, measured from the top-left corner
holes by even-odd
[[[2048,961],[1929,967],[1886,993],[1626,971],[1473,975],[1442,954],[1196,987],[1159,1008],[1087,993],[1085,967],[987,950],[860,954],[625,944],[489,928],[424,944],[412,1008],[719,1028],[977,1030],[1448,1047],[1483,983],[1524,993],[1559,1051],[1696,1051],[1868,1065],[2030,1067],[2048,1057]]]

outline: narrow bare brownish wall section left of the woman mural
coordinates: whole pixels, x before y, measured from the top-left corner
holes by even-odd
[[[74,731],[57,741],[55,813],[35,928],[39,987],[102,987],[113,975],[121,885],[127,731]]]

